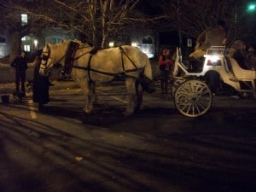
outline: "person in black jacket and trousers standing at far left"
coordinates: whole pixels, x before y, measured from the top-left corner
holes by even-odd
[[[26,61],[26,52],[20,51],[20,55],[18,55],[14,61],[11,62],[11,67],[15,67],[15,84],[16,84],[16,92],[20,92],[20,83],[21,83],[21,92],[22,96],[26,96],[25,94],[25,80],[26,80],[26,69],[27,69],[27,61]]]

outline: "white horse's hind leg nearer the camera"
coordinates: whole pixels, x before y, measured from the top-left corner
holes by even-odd
[[[136,79],[125,79],[125,85],[128,92],[128,102],[124,114],[129,116],[134,113],[137,104]]]

